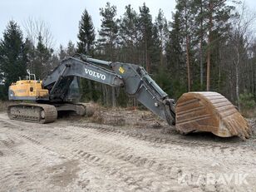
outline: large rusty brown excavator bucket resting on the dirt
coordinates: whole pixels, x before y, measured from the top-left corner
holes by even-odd
[[[249,123],[224,96],[217,92],[188,92],[176,103],[176,129],[187,134],[195,130],[220,137],[252,134]]]

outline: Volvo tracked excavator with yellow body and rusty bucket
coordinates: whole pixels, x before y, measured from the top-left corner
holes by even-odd
[[[8,106],[10,119],[50,123],[61,111],[80,116],[88,106],[79,103],[80,78],[109,86],[121,86],[129,96],[167,121],[180,133],[212,132],[220,137],[237,135],[249,138],[248,122],[224,96],[217,92],[188,92],[175,102],[149,76],[142,66],[123,62],[106,62],[91,57],[67,57],[42,81],[28,72],[28,79],[9,86],[9,100],[34,101]]]

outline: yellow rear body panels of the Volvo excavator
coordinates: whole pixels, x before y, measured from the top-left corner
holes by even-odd
[[[36,96],[37,98],[49,96],[47,89],[42,89],[42,81],[22,80],[12,83],[9,89],[15,96]]]

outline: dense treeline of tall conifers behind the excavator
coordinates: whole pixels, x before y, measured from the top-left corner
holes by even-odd
[[[145,3],[136,12],[126,6],[101,7],[98,32],[90,10],[81,15],[76,45],[53,50],[49,32],[32,21],[23,40],[16,22],[9,22],[0,42],[0,70],[7,86],[25,75],[28,67],[42,79],[67,56],[82,53],[112,62],[144,66],[172,98],[187,91],[218,91],[237,106],[254,107],[256,98],[256,41],[251,31],[254,13],[244,3],[226,0],[177,0],[172,21],[160,9],[153,18]],[[42,23],[41,23],[42,24]],[[37,26],[37,27],[35,27]],[[41,26],[41,29],[40,29]],[[35,33],[33,29],[37,29]],[[120,88],[81,80],[84,101],[107,106],[137,105]]]

